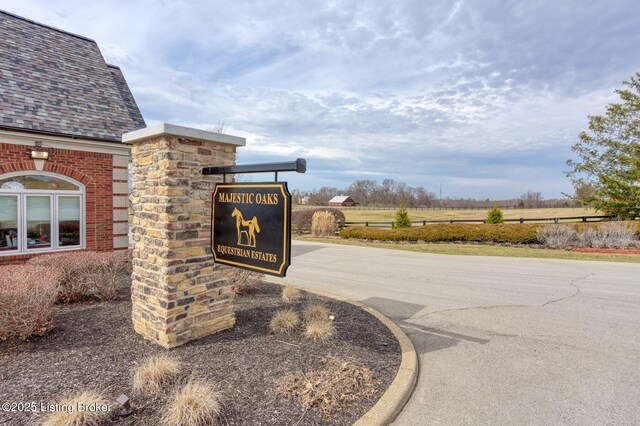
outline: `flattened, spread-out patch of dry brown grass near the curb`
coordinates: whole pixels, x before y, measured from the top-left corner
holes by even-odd
[[[378,392],[380,382],[368,368],[329,357],[318,370],[289,373],[276,381],[277,391],[295,398],[305,409],[331,416]]]

